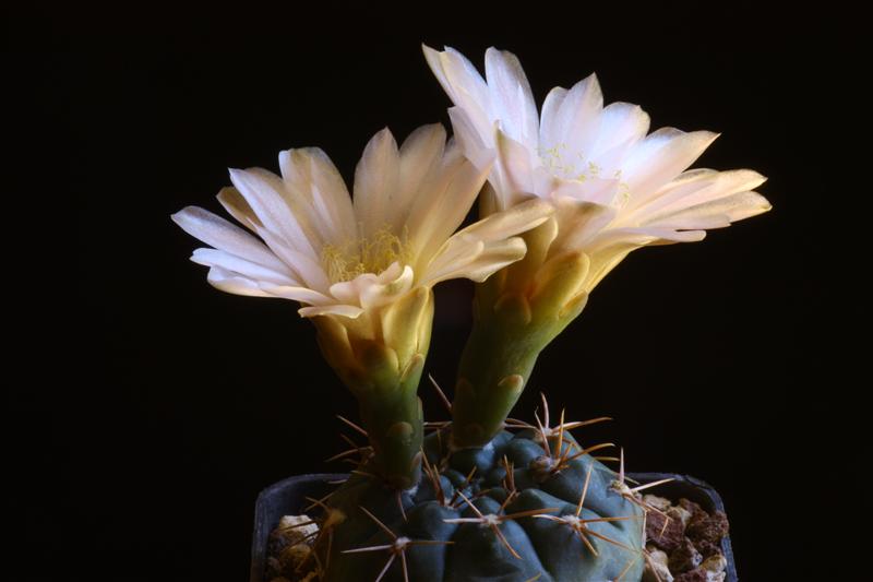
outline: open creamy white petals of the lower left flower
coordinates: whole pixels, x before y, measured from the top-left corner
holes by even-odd
[[[279,154],[282,176],[231,169],[235,188],[222,205],[259,238],[200,207],[172,216],[214,248],[194,251],[215,287],[238,295],[304,304],[300,314],[358,318],[410,290],[440,281],[482,281],[521,259],[515,237],[542,221],[537,201],[495,214],[458,233],[488,174],[445,144],[439,124],[424,126],[397,147],[376,133],[355,173],[355,199],[316,147]]]

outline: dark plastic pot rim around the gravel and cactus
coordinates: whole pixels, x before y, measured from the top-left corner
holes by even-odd
[[[725,502],[718,491],[708,483],[696,477],[675,473],[629,473],[627,476],[643,484],[672,478],[672,482],[658,486],[658,495],[670,499],[684,497],[709,512],[725,511]],[[300,514],[308,504],[303,500],[304,496],[319,497],[318,494],[327,487],[327,482],[347,477],[348,475],[345,473],[296,475],[274,483],[261,491],[254,506],[250,582],[264,582],[267,537],[270,532],[278,525],[279,519],[283,515]],[[725,582],[737,582],[739,579],[730,535],[726,535],[721,541],[721,554],[728,561]]]

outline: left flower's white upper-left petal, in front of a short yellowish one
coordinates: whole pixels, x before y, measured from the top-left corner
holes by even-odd
[[[237,187],[266,230],[277,235],[295,250],[319,256],[307,237],[298,216],[295,216],[284,195],[284,185],[277,176],[268,179],[266,170],[230,170],[230,180]]]

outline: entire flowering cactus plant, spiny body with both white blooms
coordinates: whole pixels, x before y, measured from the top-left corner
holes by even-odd
[[[541,115],[515,56],[424,47],[454,106],[455,139],[424,126],[398,147],[376,133],[354,199],[316,147],[280,176],[230,170],[218,201],[244,228],[189,206],[174,219],[210,245],[194,262],[238,295],[301,304],[325,359],[358,401],[369,443],[313,500],[321,530],[301,566],[320,579],[638,581],[646,507],[620,470],[552,424],[509,418],[539,353],[632,250],[701,240],[769,210],[752,170],[687,170],[716,138],[660,129],[635,105],[603,107],[594,75],[553,88]],[[478,222],[458,230],[478,197]],[[424,423],[418,385],[433,285],[477,282],[452,420]],[[442,394],[442,392],[440,392]],[[426,429],[430,433],[426,437]]]

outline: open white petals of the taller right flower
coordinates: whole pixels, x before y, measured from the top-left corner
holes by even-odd
[[[716,139],[672,128],[647,134],[639,106],[603,107],[593,74],[571,90],[553,88],[541,117],[518,59],[489,48],[486,78],[452,48],[424,47],[436,79],[454,102],[449,112],[465,155],[491,166],[493,200],[486,212],[535,194],[558,210],[549,254],[582,251],[589,292],[631,250],[701,240],[770,209],[754,189],[765,181],[741,169],[686,170]]]

